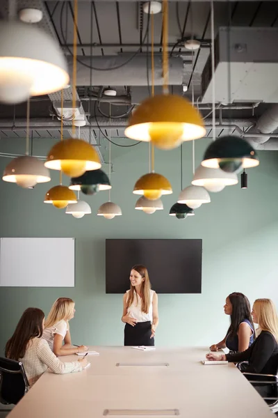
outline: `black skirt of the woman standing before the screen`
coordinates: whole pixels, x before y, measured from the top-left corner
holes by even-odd
[[[154,346],[152,335],[152,324],[150,321],[137,323],[134,325],[126,324],[124,327],[124,346]]]

